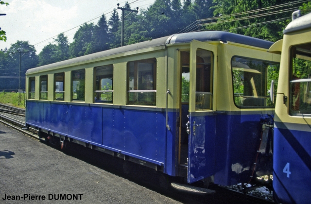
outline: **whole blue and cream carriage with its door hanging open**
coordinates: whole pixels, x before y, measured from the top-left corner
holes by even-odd
[[[267,87],[280,56],[267,52],[272,44],[174,34],[32,68],[26,124],[188,183],[246,183],[272,173],[271,135],[262,130],[274,114]]]

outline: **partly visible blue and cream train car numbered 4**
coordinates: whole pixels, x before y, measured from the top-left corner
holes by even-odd
[[[311,14],[296,18],[297,14],[283,39],[269,50],[281,51],[273,188],[276,201],[283,204],[311,202]]]

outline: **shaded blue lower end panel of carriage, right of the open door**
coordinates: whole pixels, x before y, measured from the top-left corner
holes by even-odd
[[[229,186],[250,181],[261,141],[260,117],[263,115],[217,115],[215,183]],[[271,153],[259,153],[253,176],[272,174],[272,165]]]

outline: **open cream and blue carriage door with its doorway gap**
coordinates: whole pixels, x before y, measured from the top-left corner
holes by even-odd
[[[216,57],[216,46],[195,40],[190,44],[190,51],[181,52],[180,164],[188,166],[188,183],[215,172]]]

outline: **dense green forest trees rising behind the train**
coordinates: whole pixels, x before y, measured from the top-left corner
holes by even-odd
[[[287,4],[285,4],[287,3]],[[0,4],[8,5],[3,1]],[[126,2],[125,7],[131,8]],[[125,11],[124,44],[129,45],[172,34],[219,30],[276,41],[290,22],[291,13],[300,7],[302,14],[311,11],[311,2],[293,0],[155,0],[137,13]],[[28,68],[79,57],[121,46],[121,16],[114,9],[110,17],[102,15],[97,24],[85,23],[68,37],[59,34],[36,55],[35,48],[25,41],[17,41],[9,49],[0,51],[0,76],[17,76],[18,51],[22,53],[24,76]],[[6,40],[0,30],[0,40]],[[1,81],[1,80],[0,80]],[[12,86],[16,81],[1,83],[0,88]],[[186,83],[186,81],[184,81]]]

